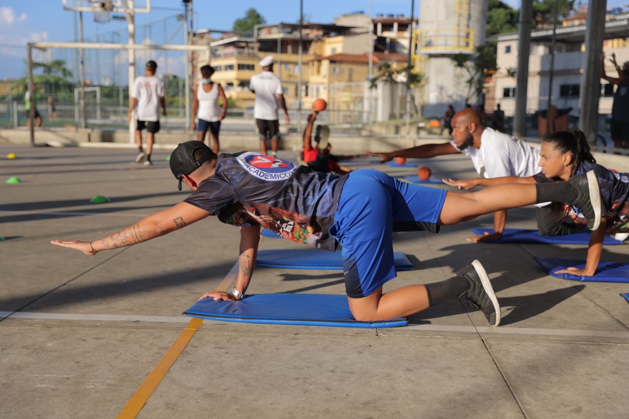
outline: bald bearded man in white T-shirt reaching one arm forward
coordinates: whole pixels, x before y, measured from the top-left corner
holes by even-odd
[[[502,176],[528,177],[538,174],[540,149],[531,147],[518,138],[511,137],[486,126],[474,109],[465,108],[452,118],[452,141],[440,144],[423,144],[389,153],[367,153],[381,157],[381,163],[394,157],[429,159],[438,155],[463,153],[472,159],[479,176],[487,179]],[[443,179],[445,184],[464,189],[457,181]],[[506,224],[506,211],[494,213],[494,233],[470,237],[470,242],[498,240]]]

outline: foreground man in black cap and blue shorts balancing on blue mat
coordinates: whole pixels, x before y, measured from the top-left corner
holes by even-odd
[[[202,298],[237,301],[244,297],[255,267],[260,226],[264,226],[284,238],[320,249],[335,251],[342,245],[345,289],[356,320],[408,316],[460,298],[481,309],[489,323],[498,326],[498,299],[478,260],[445,281],[383,294],[384,283],[396,277],[392,232],[437,233],[442,225],[547,201],[576,205],[593,230],[601,218],[598,181],[591,176],[594,172],[573,176],[567,182],[502,184],[459,193],[401,182],[372,169],[339,176],[256,152],[217,156],[196,140],[175,148],[170,170],[179,187],[183,182],[192,190],[184,202],[94,242],[51,243],[95,255],[216,215],[223,223],[240,227],[238,276],[231,293],[209,291]]]

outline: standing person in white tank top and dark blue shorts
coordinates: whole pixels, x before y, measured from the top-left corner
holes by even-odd
[[[197,139],[201,142],[205,141],[208,130],[212,134],[212,151],[218,154],[220,148],[218,142],[218,132],[221,129],[221,121],[225,119],[227,113],[227,97],[223,86],[210,80],[214,74],[214,69],[210,65],[201,67],[201,84],[194,87],[192,94],[192,129],[197,130]],[[223,102],[223,111],[221,111],[218,98]],[[194,118],[199,118],[198,124]]]

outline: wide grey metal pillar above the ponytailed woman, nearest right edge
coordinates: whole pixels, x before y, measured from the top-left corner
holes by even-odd
[[[606,1],[589,0],[586,21],[586,57],[579,96],[579,129],[587,142],[594,143],[598,131],[598,104],[601,98],[600,55],[605,35]]]

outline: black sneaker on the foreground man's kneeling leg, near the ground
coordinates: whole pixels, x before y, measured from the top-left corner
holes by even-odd
[[[490,325],[498,326],[500,324],[500,305],[481,262],[474,260],[472,264],[460,269],[457,276],[467,278],[470,281],[470,289],[461,294],[459,299],[465,301],[470,307],[474,306],[481,310]]]

